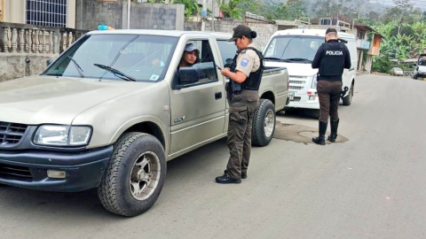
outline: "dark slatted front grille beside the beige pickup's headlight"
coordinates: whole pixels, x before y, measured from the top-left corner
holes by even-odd
[[[27,125],[23,124],[0,121],[0,147],[20,143],[20,139],[25,134],[27,127]]]

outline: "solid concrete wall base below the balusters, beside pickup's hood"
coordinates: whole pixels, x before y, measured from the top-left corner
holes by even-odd
[[[58,56],[59,54],[41,56],[38,54],[2,53],[0,55],[0,82],[42,73],[46,68],[46,60],[58,58]]]

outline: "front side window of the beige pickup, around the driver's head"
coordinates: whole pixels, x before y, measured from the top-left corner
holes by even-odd
[[[191,87],[209,82],[218,81],[217,68],[209,40],[191,40],[186,43],[193,43],[200,50],[193,66],[178,67],[177,85],[181,87]],[[185,52],[183,52],[185,54]],[[182,56],[184,58],[184,56]],[[182,73],[185,72],[185,75]],[[189,73],[189,74],[188,74]],[[186,79],[191,78],[191,79]]]

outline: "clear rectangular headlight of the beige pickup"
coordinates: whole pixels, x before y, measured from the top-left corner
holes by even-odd
[[[45,125],[38,127],[34,143],[51,146],[83,146],[89,143],[91,127]]]

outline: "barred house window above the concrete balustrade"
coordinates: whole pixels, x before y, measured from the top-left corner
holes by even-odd
[[[27,0],[27,24],[67,27],[67,0]]]

